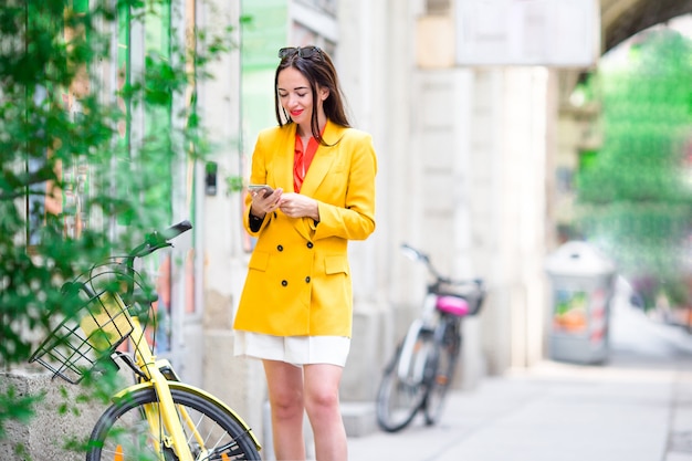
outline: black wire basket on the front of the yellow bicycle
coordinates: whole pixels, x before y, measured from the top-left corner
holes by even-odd
[[[80,284],[78,293],[73,293],[83,302],[76,313],[63,318],[29,359],[71,384],[109,359],[134,328],[127,306],[116,292],[103,287],[94,292],[96,276]]]

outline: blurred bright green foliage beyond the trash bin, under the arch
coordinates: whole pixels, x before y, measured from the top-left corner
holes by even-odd
[[[625,67],[601,66],[604,144],[578,176],[585,235],[622,274],[685,304],[692,223],[692,43],[663,29],[640,35]],[[688,268],[689,270],[689,268]]]

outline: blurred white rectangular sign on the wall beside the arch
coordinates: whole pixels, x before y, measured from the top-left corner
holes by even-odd
[[[600,55],[598,0],[457,0],[458,65],[588,67]]]

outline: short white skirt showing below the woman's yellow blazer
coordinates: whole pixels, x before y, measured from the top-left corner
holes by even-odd
[[[242,329],[233,333],[233,355],[296,366],[332,364],[344,367],[350,349],[350,338],[345,336],[271,336]]]

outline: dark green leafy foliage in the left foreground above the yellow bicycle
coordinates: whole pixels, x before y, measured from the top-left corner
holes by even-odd
[[[147,50],[139,75],[123,64],[117,87],[101,77],[106,64],[119,64],[111,53],[114,31],[176,13],[170,0],[9,0],[0,9],[4,367],[27,363],[51,317],[81,307],[66,302],[64,282],[169,223],[161,174],[209,150],[196,82],[211,77],[206,64],[233,48],[231,27],[174,31],[168,43]],[[140,107],[166,122],[136,138],[128,130]],[[114,232],[124,226],[127,232]],[[30,418],[39,398],[0,394],[0,437],[3,422]]]

